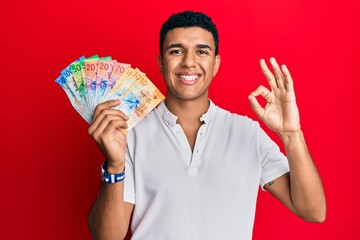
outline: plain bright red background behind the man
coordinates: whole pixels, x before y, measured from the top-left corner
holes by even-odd
[[[286,63],[295,81],[327,220],[304,222],[260,191],[254,239],[360,239],[356,2],[1,1],[0,239],[90,239],[103,157],[54,80],[81,55],[110,55],[165,92],[158,32],[186,9],[208,13],[219,28],[222,62],[210,89],[217,105],[255,118],[247,95],[266,84],[260,58]]]

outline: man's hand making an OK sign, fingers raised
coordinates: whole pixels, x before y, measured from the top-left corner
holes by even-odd
[[[260,68],[268,80],[271,91],[260,85],[249,95],[252,109],[256,115],[273,131],[282,135],[300,130],[299,111],[296,105],[293,80],[285,65],[277,64],[275,58],[270,59],[274,74],[265,61],[260,61]],[[275,76],[274,76],[275,75]],[[256,97],[261,95],[266,100],[263,108]]]

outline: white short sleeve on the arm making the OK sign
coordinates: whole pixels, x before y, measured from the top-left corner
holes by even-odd
[[[260,126],[257,131],[257,137],[259,143],[258,154],[260,156],[262,170],[260,185],[264,190],[265,184],[288,173],[290,169],[287,157]]]

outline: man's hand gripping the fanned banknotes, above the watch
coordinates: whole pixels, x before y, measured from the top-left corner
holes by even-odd
[[[129,117],[120,110],[112,109],[119,104],[119,100],[99,104],[88,130],[106,157],[110,173],[120,173],[125,165],[126,137],[120,129],[127,129]]]

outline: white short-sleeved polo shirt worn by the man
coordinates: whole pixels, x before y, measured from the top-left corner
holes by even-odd
[[[289,171],[259,124],[210,101],[194,151],[162,102],[127,136],[132,239],[252,238],[259,185]]]

